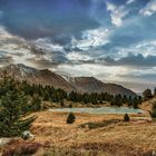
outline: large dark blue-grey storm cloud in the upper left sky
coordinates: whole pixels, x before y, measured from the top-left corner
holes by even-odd
[[[1,0],[3,25],[27,39],[64,35],[98,27],[88,14],[90,0]],[[57,38],[56,38],[57,39]],[[59,40],[59,37],[58,37]]]

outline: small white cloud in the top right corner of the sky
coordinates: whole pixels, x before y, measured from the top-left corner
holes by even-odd
[[[150,0],[145,8],[139,10],[139,13],[146,17],[156,12],[156,0]]]

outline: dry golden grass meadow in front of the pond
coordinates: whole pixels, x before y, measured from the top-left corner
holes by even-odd
[[[76,123],[72,125],[66,124],[67,115],[66,113],[38,113],[31,131],[36,135],[35,142],[47,145],[47,148],[37,155],[43,155],[46,150],[52,149],[78,153],[85,150],[86,156],[91,154],[139,156],[156,150],[156,124],[149,121],[148,114],[130,115],[130,123],[120,121],[97,129],[80,128],[79,125],[88,121],[123,120],[124,115],[76,114]],[[56,156],[59,156],[59,153]]]

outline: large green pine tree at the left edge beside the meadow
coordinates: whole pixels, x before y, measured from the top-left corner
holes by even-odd
[[[0,101],[0,137],[20,136],[30,128],[36,117],[26,117],[29,113],[23,109],[27,108],[27,98],[14,79],[4,77],[0,89],[3,90]]]

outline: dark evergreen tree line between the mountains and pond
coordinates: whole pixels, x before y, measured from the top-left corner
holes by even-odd
[[[64,100],[69,100],[74,103],[82,103],[85,105],[105,105],[106,101],[109,101],[111,106],[131,106],[138,108],[138,105],[142,104],[142,97],[130,97],[121,95],[109,95],[107,92],[91,92],[91,94],[80,94],[77,91],[66,92],[65,90],[53,88],[52,86],[42,86],[42,85],[30,85],[27,81],[20,82],[21,90],[25,91],[27,96],[35,97],[38,96],[43,101],[53,101],[60,103],[64,105]]]

